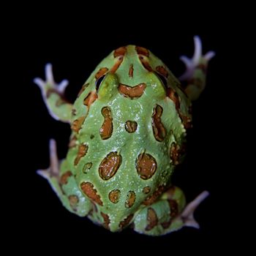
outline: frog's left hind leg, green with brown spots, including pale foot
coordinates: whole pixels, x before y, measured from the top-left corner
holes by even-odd
[[[69,211],[81,217],[89,213],[91,203],[80,192],[67,160],[59,162],[55,140],[50,140],[50,167],[46,170],[37,170],[37,173],[48,180],[63,206]]]

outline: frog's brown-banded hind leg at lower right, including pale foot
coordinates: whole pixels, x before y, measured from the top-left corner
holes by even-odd
[[[171,187],[157,201],[138,212],[134,219],[134,230],[149,236],[162,236],[181,227],[199,228],[193,213],[207,196],[208,192],[202,192],[186,206],[182,190]]]

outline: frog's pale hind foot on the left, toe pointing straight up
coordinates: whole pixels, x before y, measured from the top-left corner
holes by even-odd
[[[45,170],[37,170],[39,176],[49,179],[51,177],[59,178],[59,159],[57,157],[56,140],[50,140],[50,167]]]

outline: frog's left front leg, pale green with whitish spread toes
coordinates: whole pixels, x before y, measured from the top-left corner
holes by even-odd
[[[52,65],[45,65],[45,81],[35,78],[34,83],[39,86],[42,98],[48,108],[50,116],[59,121],[70,122],[72,116],[72,104],[64,99],[64,91],[68,85],[68,80],[56,83],[53,78]]]

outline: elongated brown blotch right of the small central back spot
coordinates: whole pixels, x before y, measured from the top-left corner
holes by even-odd
[[[157,141],[164,140],[166,136],[166,130],[164,125],[162,124],[161,116],[162,116],[162,107],[157,105],[154,108],[154,113],[152,115],[152,128],[153,128],[154,138]]]

